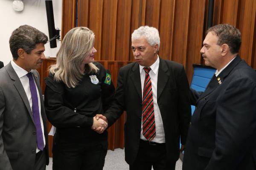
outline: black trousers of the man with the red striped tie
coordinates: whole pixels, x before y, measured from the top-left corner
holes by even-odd
[[[137,157],[130,170],[175,170],[176,161],[167,162],[166,145],[140,140]]]

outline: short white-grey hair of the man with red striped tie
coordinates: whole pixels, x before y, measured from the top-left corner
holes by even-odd
[[[160,37],[157,28],[149,26],[141,26],[140,28],[134,30],[131,34],[131,40],[139,39],[140,37],[145,37],[148,44],[151,46],[158,45],[157,51],[160,47]]]

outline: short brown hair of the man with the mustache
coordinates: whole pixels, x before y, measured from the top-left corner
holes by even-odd
[[[239,29],[230,24],[212,26],[206,34],[213,32],[218,36],[218,45],[227,44],[232,54],[238,53],[241,46],[241,33]]]

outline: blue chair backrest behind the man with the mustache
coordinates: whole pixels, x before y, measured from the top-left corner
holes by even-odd
[[[216,69],[206,65],[198,64],[193,64],[193,68],[194,74],[190,87],[196,91],[204,91]],[[193,114],[194,111],[195,106],[191,105],[191,113]]]

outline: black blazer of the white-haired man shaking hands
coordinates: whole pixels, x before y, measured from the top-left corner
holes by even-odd
[[[180,139],[184,144],[191,118],[189,83],[183,65],[160,59],[157,104],[163,119],[167,159],[176,161],[179,158]],[[105,113],[109,125],[113,124],[123,111],[127,113],[125,161],[132,164],[140,145],[142,117],[140,69],[137,62],[128,64],[119,70],[115,103]]]

